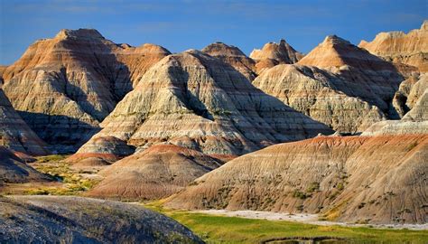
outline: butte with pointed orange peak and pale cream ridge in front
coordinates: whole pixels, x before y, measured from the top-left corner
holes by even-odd
[[[398,117],[392,100],[404,78],[392,63],[328,36],[296,64],[265,70],[253,84],[341,133]]]

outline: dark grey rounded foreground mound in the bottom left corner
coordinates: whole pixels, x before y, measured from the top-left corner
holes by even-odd
[[[0,197],[2,243],[203,243],[138,205],[66,196]]]

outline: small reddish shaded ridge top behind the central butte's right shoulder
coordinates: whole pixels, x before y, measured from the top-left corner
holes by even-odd
[[[215,42],[203,48],[202,52],[230,64],[250,81],[256,78],[256,62],[235,46]]]

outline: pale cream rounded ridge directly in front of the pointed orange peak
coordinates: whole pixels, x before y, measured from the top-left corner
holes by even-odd
[[[358,133],[385,119],[379,108],[358,98],[353,84],[328,70],[280,64],[265,70],[253,84],[341,133]]]

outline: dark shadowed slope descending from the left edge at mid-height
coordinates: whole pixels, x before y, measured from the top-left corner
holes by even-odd
[[[0,83],[0,145],[28,155],[47,155],[46,144],[16,113]]]

